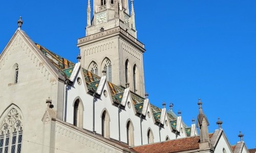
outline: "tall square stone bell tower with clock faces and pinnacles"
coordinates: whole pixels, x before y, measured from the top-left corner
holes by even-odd
[[[83,68],[144,96],[145,46],[137,39],[134,0],[93,0],[93,10],[88,0],[86,36],[77,46]]]

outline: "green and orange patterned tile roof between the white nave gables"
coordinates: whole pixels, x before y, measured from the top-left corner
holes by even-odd
[[[37,48],[40,49],[42,54],[44,54],[46,56],[46,58],[49,60],[49,62],[54,65],[54,67],[57,69],[57,71],[63,77],[65,77],[65,78],[67,77],[69,79],[72,74],[75,64],[73,62],[71,62],[65,58],[62,58],[59,55],[51,52],[47,48],[45,48],[37,43],[35,43],[35,44],[36,44]],[[86,81],[86,85],[87,85],[88,89],[91,91],[96,91],[98,88],[99,82],[100,82],[100,77],[84,68],[82,68],[82,72],[83,72],[84,80]],[[111,97],[112,97],[113,101],[115,103],[121,103],[124,88],[118,87],[111,82],[108,82],[108,84],[110,87]],[[144,105],[144,98],[140,97],[139,95],[137,95],[133,92],[130,92],[130,93],[131,93],[131,97],[132,97],[136,112],[142,113],[142,109],[143,109],[143,105]],[[153,116],[154,116],[155,120],[159,121],[160,117],[161,117],[161,109],[152,104],[150,105],[150,107],[152,109]],[[177,116],[172,111],[168,111],[167,117],[169,120],[171,120],[172,127],[176,129],[176,125],[173,125],[172,121],[174,121],[173,123],[176,123]]]

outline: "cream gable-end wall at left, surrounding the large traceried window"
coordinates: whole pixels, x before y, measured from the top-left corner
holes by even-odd
[[[19,68],[17,84],[13,84],[15,63]],[[1,55],[0,65],[0,115],[11,104],[19,107],[24,116],[22,151],[42,152],[41,118],[49,96],[53,105],[57,106],[58,81],[19,32]]]

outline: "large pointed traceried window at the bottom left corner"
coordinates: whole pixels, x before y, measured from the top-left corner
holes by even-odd
[[[12,108],[0,125],[0,152],[20,153],[23,140],[22,115],[17,109]]]

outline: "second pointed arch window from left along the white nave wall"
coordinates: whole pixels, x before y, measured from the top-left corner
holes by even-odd
[[[102,137],[110,138],[110,116],[104,111],[101,116]]]

